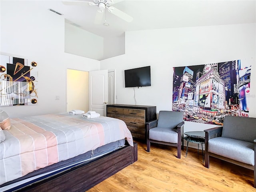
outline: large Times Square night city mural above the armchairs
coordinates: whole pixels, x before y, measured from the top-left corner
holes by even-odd
[[[223,125],[226,115],[248,117],[251,66],[234,60],[173,70],[172,110],[185,121]]]

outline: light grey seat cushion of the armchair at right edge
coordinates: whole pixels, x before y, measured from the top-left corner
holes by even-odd
[[[208,152],[254,166],[254,143],[216,137],[208,141]]]

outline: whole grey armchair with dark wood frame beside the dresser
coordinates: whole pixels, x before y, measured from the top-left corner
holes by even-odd
[[[177,146],[177,158],[180,158],[184,148],[183,126],[183,112],[160,111],[158,120],[146,123],[147,152],[150,152],[150,143]]]

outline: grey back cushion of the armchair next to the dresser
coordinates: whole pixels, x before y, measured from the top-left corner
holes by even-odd
[[[183,112],[159,111],[158,127],[176,128],[183,121]]]

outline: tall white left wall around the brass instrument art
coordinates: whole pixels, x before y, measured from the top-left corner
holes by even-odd
[[[64,53],[64,17],[39,6],[44,1],[0,1],[0,51],[38,64],[38,104],[1,107],[11,118],[66,111],[67,68],[100,67],[97,60]]]

